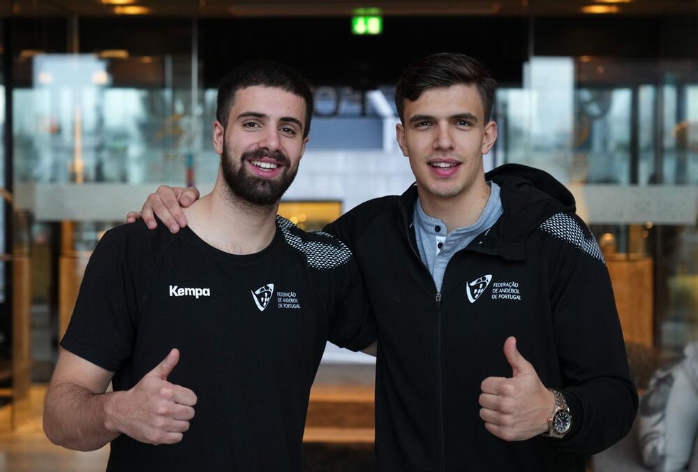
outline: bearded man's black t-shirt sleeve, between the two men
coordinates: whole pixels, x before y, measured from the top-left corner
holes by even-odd
[[[342,348],[361,351],[376,341],[376,320],[356,260],[339,267],[335,275],[330,287],[328,339]]]

